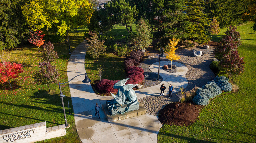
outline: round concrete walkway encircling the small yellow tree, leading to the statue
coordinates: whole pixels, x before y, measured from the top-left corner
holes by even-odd
[[[178,68],[177,73],[169,73],[169,72],[166,72],[164,69],[162,69],[162,66],[164,66],[164,65],[171,65],[170,61],[160,62],[159,75],[163,78],[163,81],[158,85],[154,85],[151,87],[136,90],[135,93],[136,93],[137,97],[143,98],[143,97],[146,97],[149,95],[160,95],[160,87],[162,84],[165,84],[165,86],[166,86],[164,94],[169,94],[168,86],[170,84],[172,84],[173,88],[174,88],[172,93],[178,92],[182,86],[185,89],[188,85],[188,81],[186,79],[186,73],[188,71],[188,68],[181,63],[172,62],[172,64],[177,66],[177,68]],[[158,74],[158,65],[159,65],[159,62],[156,62],[156,63],[150,65],[149,69],[153,73]]]

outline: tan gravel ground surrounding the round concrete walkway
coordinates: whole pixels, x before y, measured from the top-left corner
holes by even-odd
[[[176,50],[176,54],[180,56],[180,59],[175,61],[182,63],[188,67],[188,72],[186,73],[186,78],[188,80],[188,86],[185,88],[186,90],[190,90],[196,86],[202,87],[208,81],[215,77],[214,73],[209,68],[209,65],[214,58],[212,54],[214,47],[209,46],[209,49],[202,48],[203,45],[195,45],[191,48],[178,48]],[[193,50],[202,51],[205,53],[204,56],[194,57]],[[157,52],[150,52],[148,55],[155,55]],[[145,59],[139,66],[144,68],[144,71],[150,73],[151,71],[148,68],[151,64],[158,62],[159,59]],[[161,58],[161,61],[166,61],[168,59]],[[150,72],[149,72],[150,71]],[[152,73],[152,72],[151,72]],[[154,74],[154,73],[153,73]],[[156,75],[156,74],[155,74]],[[157,75],[156,75],[157,76]],[[150,85],[150,84],[148,84]],[[159,90],[160,94],[160,90]],[[165,93],[166,94],[166,93]],[[177,102],[178,92],[173,93],[173,97],[168,98],[167,95],[164,96],[147,96],[139,99],[142,105],[147,109],[147,113],[150,115],[157,116],[158,111],[161,110],[165,105]]]

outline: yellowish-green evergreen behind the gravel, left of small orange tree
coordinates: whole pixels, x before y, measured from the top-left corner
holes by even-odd
[[[198,44],[207,43],[210,40],[206,30],[209,27],[210,20],[203,12],[204,5],[204,0],[189,0],[186,2],[187,20],[191,22],[188,37]]]

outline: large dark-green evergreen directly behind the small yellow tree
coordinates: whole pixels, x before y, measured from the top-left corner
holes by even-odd
[[[186,31],[190,22],[186,20],[184,0],[153,0],[151,9],[147,17],[157,39],[157,47],[167,47],[173,36],[179,39],[188,37]]]

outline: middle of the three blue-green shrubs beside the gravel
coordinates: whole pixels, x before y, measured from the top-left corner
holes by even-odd
[[[203,88],[211,92],[211,94],[207,96],[208,100],[222,93],[220,87],[215,83],[214,80],[209,81],[207,84],[203,86]]]

